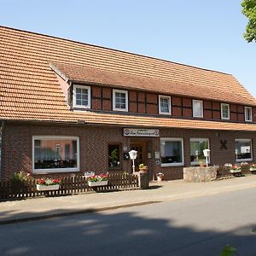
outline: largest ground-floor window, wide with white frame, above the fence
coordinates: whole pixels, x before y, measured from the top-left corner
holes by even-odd
[[[79,137],[33,137],[34,173],[79,172]]]

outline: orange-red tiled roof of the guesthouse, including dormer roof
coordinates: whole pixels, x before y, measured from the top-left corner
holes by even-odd
[[[230,74],[0,26],[0,119],[256,131],[253,124],[73,112],[50,63],[68,79],[256,106]]]

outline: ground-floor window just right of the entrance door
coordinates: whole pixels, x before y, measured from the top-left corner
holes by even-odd
[[[161,138],[161,166],[183,166],[183,138]]]

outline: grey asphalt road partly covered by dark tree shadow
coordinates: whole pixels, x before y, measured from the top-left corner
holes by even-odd
[[[120,193],[121,195],[121,193]],[[256,189],[0,225],[0,255],[256,255]]]

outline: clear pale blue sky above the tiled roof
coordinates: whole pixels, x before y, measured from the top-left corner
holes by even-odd
[[[0,0],[0,24],[232,73],[256,96],[240,0]]]

